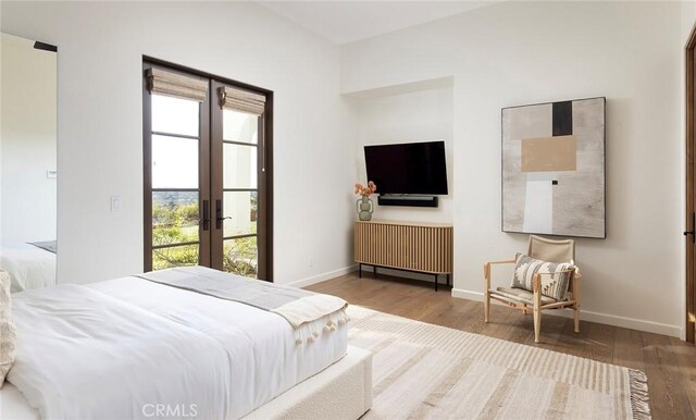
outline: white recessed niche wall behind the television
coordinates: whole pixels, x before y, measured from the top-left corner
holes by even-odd
[[[380,95],[355,100],[358,115],[358,181],[368,182],[364,146],[445,140],[447,181],[450,194],[439,196],[439,207],[378,206],[374,219],[452,222],[453,150],[452,87],[440,86],[401,94]]]

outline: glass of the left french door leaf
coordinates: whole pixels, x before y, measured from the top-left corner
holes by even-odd
[[[200,103],[152,95],[152,269],[200,260]]]

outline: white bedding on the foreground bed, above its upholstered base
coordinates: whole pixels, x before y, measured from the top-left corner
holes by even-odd
[[[101,300],[101,305],[105,307],[100,310],[90,309],[89,301],[84,304],[84,308],[79,305],[77,308],[65,307],[60,296],[57,297],[60,294],[57,294],[55,289],[64,288],[65,293],[70,294],[73,293],[70,287],[88,289],[89,301],[94,300],[95,296],[105,296],[107,299]],[[95,374],[102,374],[104,371],[114,376],[108,381],[92,378],[91,382],[86,378],[78,379],[86,382],[85,385],[91,386],[84,386],[82,396],[65,395],[64,397],[69,398],[67,404],[97,400],[112,406],[110,411],[105,412],[113,412],[113,418],[151,418],[152,413],[149,411],[156,409],[153,405],[159,403],[156,395],[162,394],[162,390],[159,394],[153,394],[152,390],[140,388],[152,388],[151,383],[148,383],[151,382],[151,378],[147,375],[158,370],[157,366],[138,366],[138,360],[157,365],[160,358],[169,357],[172,345],[170,343],[158,350],[157,346],[141,343],[147,342],[147,338],[142,338],[145,335],[138,338],[138,334],[147,334],[148,329],[151,329],[150,334],[167,331],[167,334],[189,337],[182,343],[183,348],[177,351],[181,350],[179,353],[185,355],[185,360],[196,358],[190,360],[192,368],[158,374],[171,376],[167,381],[163,380],[164,385],[161,386],[170,386],[171,383],[171,386],[181,387],[178,395],[182,397],[167,403],[176,405],[179,410],[189,409],[189,416],[186,417],[190,417],[190,404],[186,399],[190,395],[200,393],[207,398],[217,398],[209,404],[201,404],[202,407],[196,407],[196,412],[203,415],[200,418],[234,419],[247,415],[339,360],[346,355],[348,343],[348,328],[345,324],[337,325],[331,333],[321,334],[312,343],[297,344],[294,330],[285,319],[275,313],[133,276],[87,286],[64,285],[24,292],[15,294],[13,299],[18,343],[15,366],[8,376],[10,384],[0,390],[2,419],[40,418],[38,407],[32,407],[28,402],[40,402],[45,398],[37,394],[39,391],[35,384],[36,381],[52,380],[41,378],[40,371],[41,367],[48,368],[55,363],[60,363],[65,372],[70,372],[71,369],[84,372],[78,366],[91,363],[95,366]],[[57,338],[51,337],[47,329],[54,330],[55,325],[47,326],[46,319],[65,311],[73,314],[77,311],[79,322],[77,326],[58,328],[77,328],[79,331],[72,333],[79,338],[75,339],[75,348],[71,348],[71,341],[62,339],[60,346],[64,348],[63,351],[49,351],[48,348],[57,345]],[[115,314],[124,311],[135,314],[133,322],[136,326],[128,329],[142,331],[132,333],[119,324],[119,317]],[[114,317],[109,318],[109,313],[112,312]],[[103,319],[94,319],[96,313]],[[54,318],[60,319],[58,316]],[[27,348],[29,341],[23,339],[28,331],[32,332],[30,343],[34,348]],[[113,341],[117,344],[104,348],[105,344]],[[88,343],[86,349],[85,343]],[[189,346],[190,350],[186,348]],[[217,349],[222,349],[222,355],[217,355]],[[74,357],[64,357],[72,353]],[[171,365],[170,362],[163,367]],[[26,369],[28,366],[33,366],[34,370]],[[110,368],[103,370],[103,366]],[[69,374],[61,375],[65,376],[63,381],[76,381],[69,378]],[[211,382],[216,383],[213,386],[214,392],[203,393],[201,386],[194,386],[197,383],[207,383],[209,376],[214,376],[210,378]],[[186,383],[177,384],[177,381]],[[110,386],[123,383],[132,386],[129,392],[110,390]],[[79,388],[75,384],[71,386],[73,390]],[[110,399],[110,396],[113,397]]]

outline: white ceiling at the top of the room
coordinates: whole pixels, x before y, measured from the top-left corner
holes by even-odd
[[[420,25],[494,2],[496,1],[259,1],[275,13],[338,45]]]

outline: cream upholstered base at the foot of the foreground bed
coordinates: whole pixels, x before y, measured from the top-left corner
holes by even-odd
[[[358,419],[372,407],[372,354],[348,346],[346,357],[244,419]]]

